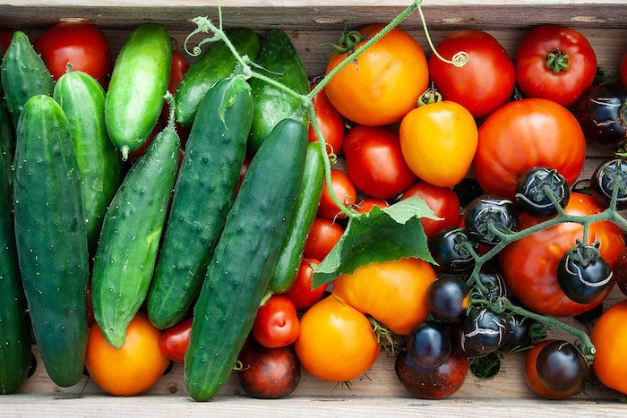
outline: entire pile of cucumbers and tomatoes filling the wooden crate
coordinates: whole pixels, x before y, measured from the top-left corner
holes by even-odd
[[[349,382],[382,347],[416,397],[520,351],[540,397],[579,393],[590,366],[626,393],[627,302],[589,336],[559,317],[627,295],[627,63],[597,82],[588,40],[548,24],[513,59],[482,30],[427,56],[398,28],[415,10],[343,33],[311,82],[282,30],[196,18],[192,64],[155,23],[115,63],[89,22],[15,31],[0,393],[28,377],[31,329],[56,385],[86,368],[118,396],[175,362],[195,400],[234,369],[284,397],[301,367]],[[582,189],[587,142],[615,158]]]

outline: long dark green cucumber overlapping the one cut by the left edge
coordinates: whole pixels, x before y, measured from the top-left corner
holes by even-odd
[[[89,252],[70,127],[53,98],[26,102],[14,166],[15,237],[33,332],[50,379],[72,386],[87,349]]]

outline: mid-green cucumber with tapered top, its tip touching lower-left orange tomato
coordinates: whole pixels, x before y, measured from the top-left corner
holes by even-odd
[[[159,132],[125,176],[102,224],[91,298],[94,318],[116,348],[124,345],[126,328],[148,293],[179,149],[174,129]]]

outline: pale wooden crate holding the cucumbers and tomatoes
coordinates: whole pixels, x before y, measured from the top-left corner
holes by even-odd
[[[26,31],[31,41],[59,20],[86,18],[105,31],[114,53],[139,23],[157,21],[182,44],[194,29],[190,19],[208,15],[215,20],[218,16],[215,0],[4,0],[2,3],[0,25]],[[226,26],[286,30],[313,78],[324,72],[325,56],[330,50],[328,43],[337,41],[341,30],[373,22],[387,23],[408,6],[409,0],[222,0],[220,3]],[[625,0],[433,0],[425,1],[424,12],[435,43],[455,30],[480,29],[492,33],[513,54],[530,27],[557,22],[588,37],[597,52],[599,66],[608,74],[617,71],[623,51],[627,50]],[[417,38],[429,54],[417,13],[400,27]],[[589,177],[606,157],[605,150],[588,149],[581,177]],[[619,299],[623,295],[614,290],[606,305]],[[33,351],[37,356],[36,347]],[[245,397],[236,376],[232,375],[218,397],[210,403],[196,403],[187,396],[183,382],[183,368],[177,364],[145,394],[110,397],[86,377],[71,388],[59,388],[48,379],[39,362],[36,373],[25,381],[18,394],[0,397],[0,415],[627,415],[627,406],[618,402],[620,396],[606,388],[590,388],[566,401],[534,397],[524,381],[521,354],[508,356],[494,378],[481,380],[468,375],[455,395],[439,401],[410,397],[396,378],[393,359],[386,354],[381,354],[367,376],[352,381],[350,389],[317,380],[304,372],[296,392],[277,401]]]

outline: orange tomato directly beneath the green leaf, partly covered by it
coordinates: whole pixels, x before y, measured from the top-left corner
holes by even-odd
[[[408,335],[426,320],[426,291],[434,280],[434,268],[425,260],[400,259],[339,276],[333,282],[333,294],[392,332]]]

